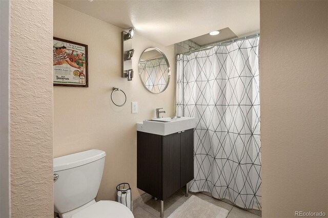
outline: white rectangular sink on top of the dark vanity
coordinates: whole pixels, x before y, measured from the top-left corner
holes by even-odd
[[[193,117],[168,117],[137,123],[137,131],[167,136],[196,126]]]

